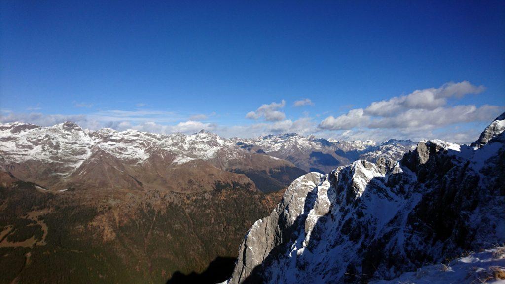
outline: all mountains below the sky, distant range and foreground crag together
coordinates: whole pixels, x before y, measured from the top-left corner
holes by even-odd
[[[503,130],[465,146],[2,124],[0,282],[402,279],[505,242]]]

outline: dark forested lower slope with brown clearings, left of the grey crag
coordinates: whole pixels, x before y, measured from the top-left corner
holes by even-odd
[[[247,228],[280,199],[228,184],[55,192],[0,178],[0,283],[164,283],[200,273],[235,258]]]

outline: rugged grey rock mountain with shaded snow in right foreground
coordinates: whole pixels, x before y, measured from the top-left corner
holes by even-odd
[[[480,147],[423,140],[401,161],[299,177],[249,229],[227,282],[387,280],[502,244],[505,132],[495,126],[503,116]]]

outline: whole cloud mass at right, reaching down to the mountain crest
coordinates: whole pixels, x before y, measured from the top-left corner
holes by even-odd
[[[505,110],[502,106],[455,105],[453,101],[467,94],[478,94],[485,88],[468,81],[449,82],[438,88],[415,90],[389,100],[372,102],[364,109],[353,109],[346,114],[329,116],[318,128],[326,136],[339,139],[442,138],[456,143],[469,143],[482,129],[468,126],[492,121]],[[448,104],[448,101],[451,104]],[[466,125],[462,131],[449,131],[450,125]],[[477,131],[475,129],[480,129]],[[328,131],[337,131],[332,135]],[[448,134],[450,133],[450,134]],[[472,137],[472,138],[471,138]]]

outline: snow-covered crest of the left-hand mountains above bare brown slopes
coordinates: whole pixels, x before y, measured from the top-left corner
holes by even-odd
[[[26,161],[56,163],[62,165],[61,172],[57,173],[61,175],[71,174],[97,151],[134,163],[143,163],[157,150],[175,155],[174,163],[192,159],[210,160],[218,151],[232,159],[238,151],[232,142],[207,132],[163,135],[110,128],[90,131],[72,122],[51,127],[19,122],[1,124],[0,139],[4,164]]]

